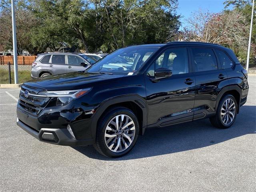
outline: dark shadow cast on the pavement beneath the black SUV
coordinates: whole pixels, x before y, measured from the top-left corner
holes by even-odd
[[[256,106],[242,106],[236,122],[229,129],[212,126],[209,119],[170,126],[151,128],[139,136],[136,145],[127,155],[107,158],[96,152],[93,146],[73,147],[75,150],[98,160],[130,160],[163,154],[182,152],[218,144],[246,134],[256,133]]]

